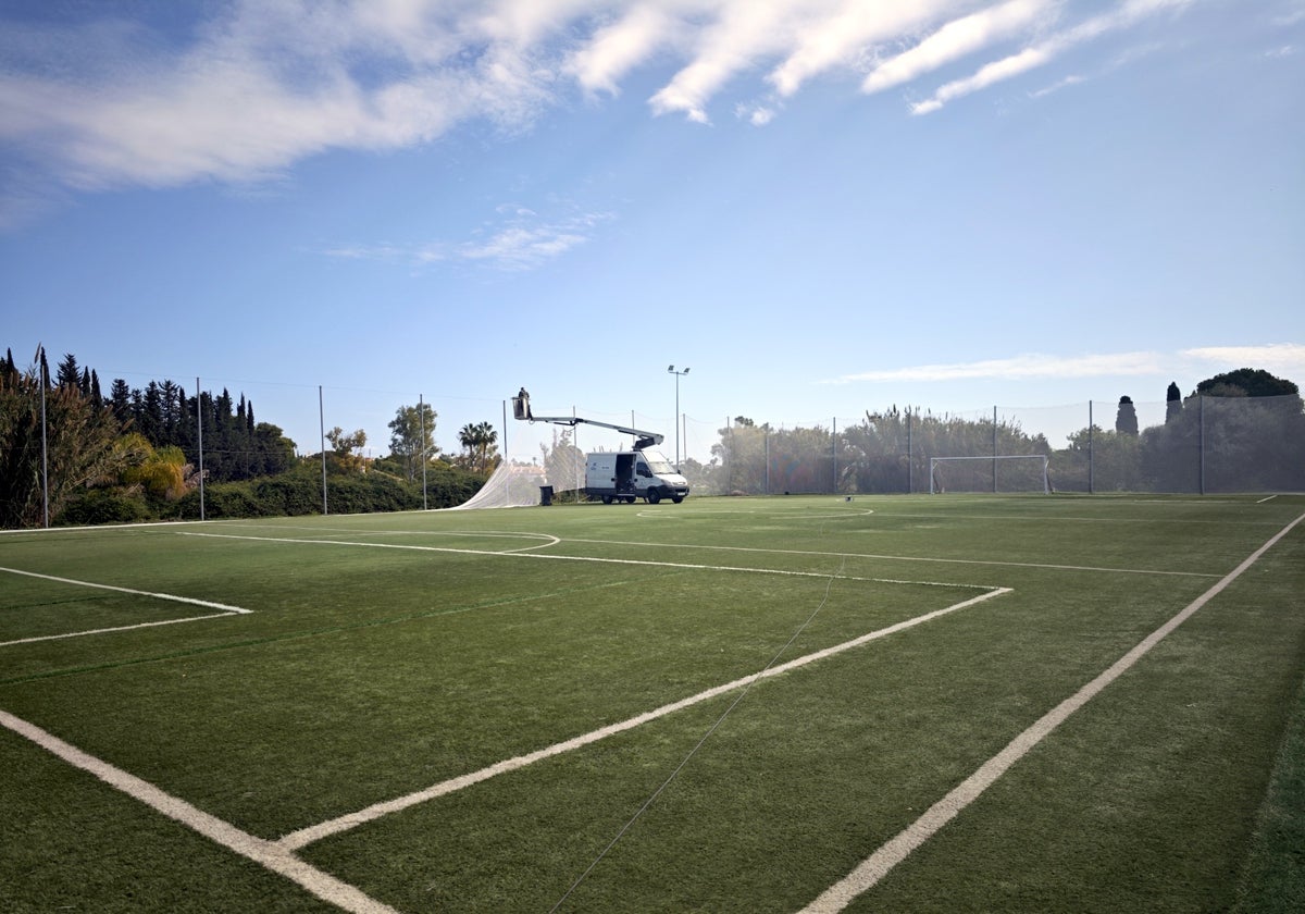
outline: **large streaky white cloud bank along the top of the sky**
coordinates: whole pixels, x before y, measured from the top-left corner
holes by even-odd
[[[411,148],[471,120],[529,129],[651,67],[668,76],[650,112],[710,123],[741,85],[763,125],[817,77],[853,74],[873,93],[1001,52],[920,114],[1189,3],[1116,0],[1071,22],[1081,7],[1061,0],[232,0],[181,5],[167,17],[181,27],[151,22],[150,5],[78,4],[64,20],[20,5],[0,12],[0,146],[29,202],[34,175],[47,197],[265,181],[328,150]],[[13,193],[0,200],[10,215]]]

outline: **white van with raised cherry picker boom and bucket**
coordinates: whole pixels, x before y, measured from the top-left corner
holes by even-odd
[[[576,427],[581,423],[612,428],[622,435],[634,436],[633,450],[598,450],[585,456],[585,495],[596,497],[603,504],[624,501],[634,504],[637,497],[649,504],[671,499],[675,504],[684,501],[689,494],[689,482],[679,470],[671,466],[666,456],[655,448],[666,435],[642,428],[616,426],[611,422],[596,422],[578,415],[535,415],[530,410],[530,394],[526,388],[512,398],[512,414],[525,422],[551,422],[555,426]]]

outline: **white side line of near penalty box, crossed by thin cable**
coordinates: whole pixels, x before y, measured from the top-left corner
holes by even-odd
[[[748,571],[754,571],[754,569],[748,569]],[[823,577],[829,578],[830,576],[825,575]],[[607,739],[608,736],[613,736],[619,733],[625,733],[626,730],[633,730],[645,723],[650,723],[660,717],[666,717],[667,714],[672,714],[677,710],[684,710],[685,708],[692,708],[693,705],[701,704],[710,699],[715,699],[720,695],[726,695],[727,692],[745,688],[761,679],[778,676],[784,672],[796,670],[801,666],[806,666],[808,663],[814,663],[816,661],[827,659],[829,657],[840,654],[844,650],[852,650],[853,648],[860,648],[861,645],[869,644],[870,641],[876,641],[889,635],[902,632],[907,628],[912,628],[915,625],[932,622],[933,619],[938,619],[940,616],[945,616],[950,612],[957,612],[958,610],[975,606],[987,599],[992,599],[993,597],[1000,597],[1001,594],[1007,594],[1007,593],[1010,593],[1009,588],[994,588],[987,593],[979,594],[977,597],[971,597],[970,599],[962,601],[959,603],[953,603],[951,606],[946,606],[941,610],[934,610],[932,612],[925,612],[912,619],[906,619],[886,628],[880,628],[873,632],[867,632],[865,635],[855,637],[851,641],[844,641],[831,648],[825,648],[823,650],[817,650],[814,653],[805,654],[796,659],[788,661],[787,663],[780,663],[778,666],[767,667],[761,672],[754,672],[743,676],[740,679],[735,679],[733,682],[724,683],[723,685],[715,685],[713,688],[706,689],[705,692],[698,692],[697,695],[681,699],[680,701],[673,701],[668,705],[662,705],[660,708],[645,712],[643,714],[638,714],[629,719],[620,721],[617,723],[612,723],[606,727],[600,727],[598,730],[591,730],[590,733],[582,734],[579,736],[573,736],[572,739],[564,740],[561,743],[555,743],[552,746],[536,749],[535,752],[530,752],[527,755],[495,763],[493,765],[482,768],[478,772],[471,772],[468,774],[461,774],[458,777],[449,778],[448,781],[441,781],[440,783],[432,785],[424,790],[418,790],[416,793],[408,794],[406,796],[398,796],[395,799],[376,803],[373,806],[367,807],[365,810],[359,810],[358,812],[350,812],[347,815],[339,816],[338,819],[331,819],[329,821],[318,823],[317,825],[311,825],[308,828],[292,832],[282,837],[281,841],[277,843],[278,846],[283,847],[287,851],[298,850],[315,841],[321,841],[322,838],[330,837],[333,834],[347,832],[352,828],[356,828],[358,825],[373,821],[392,812],[398,812],[411,806],[416,806],[419,803],[425,803],[427,800],[436,799],[437,796],[445,796],[448,794],[457,793],[458,790],[480,783],[482,781],[488,781],[489,778],[497,777],[499,774],[506,774],[508,772],[519,770],[522,768],[526,768],[527,765],[535,764],[536,761],[543,761],[545,759],[552,759],[565,752],[572,752],[591,743],[596,743],[600,739]]]

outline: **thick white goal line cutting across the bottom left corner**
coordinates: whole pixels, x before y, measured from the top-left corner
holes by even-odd
[[[275,842],[257,838],[248,832],[198,810],[183,799],[172,796],[149,781],[128,774],[107,761],[82,752],[34,723],[0,710],[0,725],[59,756],[69,765],[90,772],[100,781],[121,790],[146,806],[175,819],[241,857],[260,863],[273,872],[298,883],[318,898],[355,914],[397,914],[393,907],[364,894],[348,883],[335,879],[296,858]]]

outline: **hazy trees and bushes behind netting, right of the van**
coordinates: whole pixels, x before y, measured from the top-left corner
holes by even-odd
[[[1139,428],[1121,397],[1113,428],[1095,420],[1053,447],[1002,419],[967,419],[893,406],[844,428],[773,428],[736,417],[711,460],[685,460],[698,494],[930,491],[930,458],[1045,456],[1058,491],[1305,490],[1305,407],[1295,383],[1242,368],[1167,390],[1164,424]],[[945,470],[951,491],[1041,488],[1036,461],[972,461]],[[1023,475],[1021,475],[1023,474]],[[1036,475],[1030,475],[1036,474]]]

